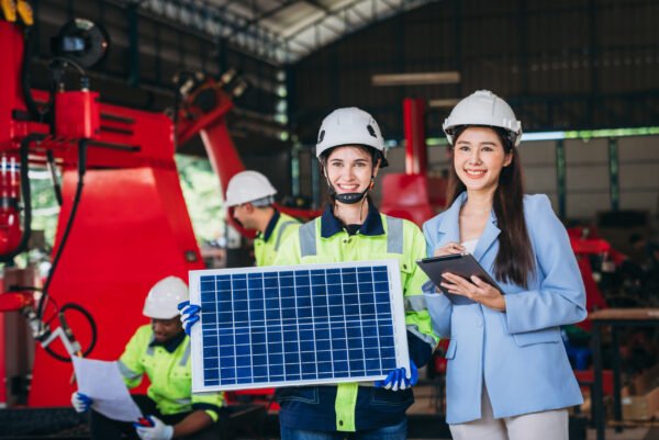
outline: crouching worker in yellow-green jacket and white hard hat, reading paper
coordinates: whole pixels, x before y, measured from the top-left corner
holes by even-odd
[[[177,304],[188,301],[188,286],[176,277],[158,281],[148,292],[143,314],[152,319],[135,331],[119,360],[119,369],[129,388],[150,381],[147,395],[133,399],[148,416],[150,426],[112,420],[90,411],[92,440],[142,439],[169,440],[219,439],[222,393],[192,394],[190,338],[185,334]],[[82,393],[71,395],[78,413],[90,408],[92,400]]]

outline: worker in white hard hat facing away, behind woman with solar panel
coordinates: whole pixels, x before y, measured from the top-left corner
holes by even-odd
[[[258,171],[241,171],[226,185],[226,207],[247,229],[256,229],[254,258],[256,266],[272,266],[279,246],[300,227],[295,218],[282,214],[272,205],[277,190]]]

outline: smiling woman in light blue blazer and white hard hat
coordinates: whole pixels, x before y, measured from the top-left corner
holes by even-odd
[[[522,124],[505,101],[477,91],[456,105],[444,131],[450,207],[425,223],[427,253],[470,252],[501,287],[446,273],[442,287],[454,295],[425,295],[435,332],[450,338],[451,435],[568,440],[566,408],[582,397],[560,326],[583,320],[587,311],[566,229],[546,195],[524,195]]]

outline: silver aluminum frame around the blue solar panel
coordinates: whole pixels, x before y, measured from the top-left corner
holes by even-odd
[[[395,352],[395,368],[405,368],[410,372],[410,356],[407,350],[407,337],[405,326],[405,309],[403,301],[403,292],[400,277],[400,267],[396,259],[378,260],[378,261],[359,261],[359,262],[340,262],[340,263],[315,263],[315,264],[298,264],[294,267],[264,267],[264,268],[237,268],[237,269],[212,269],[212,270],[196,270],[189,272],[190,285],[190,303],[201,305],[201,280],[209,275],[236,275],[250,273],[282,273],[293,271],[300,273],[302,271],[312,271],[319,269],[350,269],[365,267],[386,267],[389,281],[389,306],[391,314],[391,325],[393,327],[393,343]],[[311,273],[311,272],[310,272]],[[343,277],[343,272],[342,272]],[[343,278],[342,278],[343,280]],[[375,281],[373,281],[375,284]],[[345,284],[342,282],[342,295],[345,295]],[[281,294],[281,286],[278,286]],[[233,294],[233,293],[232,293]],[[373,292],[373,295],[376,293]],[[361,303],[359,304],[361,305]],[[344,308],[345,311],[345,308]],[[265,312],[265,305],[264,305]],[[328,315],[328,318],[331,315]],[[234,324],[235,326],[235,324]],[[347,324],[346,324],[347,326]],[[233,390],[253,390],[264,387],[283,387],[283,386],[300,386],[300,385],[325,385],[337,384],[342,382],[372,382],[387,377],[387,372],[382,374],[364,374],[349,377],[330,377],[330,379],[312,379],[312,380],[283,380],[283,381],[260,381],[255,383],[241,384],[204,384],[204,357],[203,357],[203,327],[204,314],[200,313],[200,321],[192,327],[191,330],[191,356],[192,356],[192,391],[194,393],[216,392],[216,391],[233,391]],[[219,331],[219,330],[217,330]],[[315,331],[315,330],[314,330]],[[283,332],[283,330],[282,330]],[[252,336],[250,336],[252,337]],[[347,340],[347,332],[346,332]],[[315,343],[315,342],[314,342]],[[334,342],[332,342],[334,343]],[[217,348],[220,349],[220,347]],[[365,346],[366,350],[367,347]],[[234,348],[235,350],[235,348]],[[314,352],[317,354],[317,351]],[[301,356],[301,354],[300,354]],[[217,356],[220,358],[220,354]],[[237,356],[234,354],[237,359]],[[334,362],[334,361],[333,361]],[[268,369],[270,366],[268,365]],[[333,366],[334,368],[334,366]]]

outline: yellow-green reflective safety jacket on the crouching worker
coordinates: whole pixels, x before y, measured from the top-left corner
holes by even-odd
[[[163,415],[203,409],[213,421],[217,421],[217,410],[224,405],[224,395],[192,394],[190,338],[179,338],[157,345],[150,325],[139,327],[118,362],[124,382],[129,388],[134,388],[146,374],[150,381],[146,394]]]

